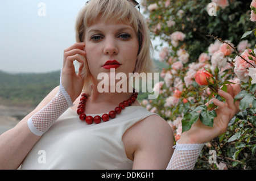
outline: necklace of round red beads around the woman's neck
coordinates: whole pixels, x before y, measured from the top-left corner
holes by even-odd
[[[121,113],[125,107],[128,107],[132,103],[134,103],[135,100],[137,99],[137,96],[138,96],[138,92],[135,92],[135,89],[133,89],[133,94],[130,96],[130,98],[119,103],[118,106],[115,107],[114,110],[109,111],[109,113],[104,113],[104,115],[102,115],[102,116],[97,115],[97,116],[92,117],[92,116],[86,116],[86,114],[84,113],[85,104],[86,104],[86,100],[88,99],[88,96],[85,93],[82,93],[80,102],[79,102],[79,106],[77,107],[77,114],[79,115],[79,119],[81,121],[85,121],[87,124],[92,124],[93,122],[98,124],[98,123],[101,123],[101,120],[106,122],[110,118],[114,119],[115,116],[117,114]]]

